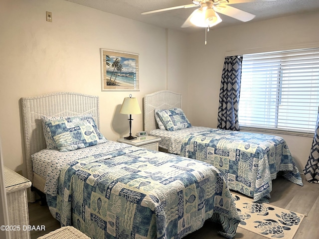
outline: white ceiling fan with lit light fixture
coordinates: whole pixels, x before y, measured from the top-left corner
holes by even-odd
[[[212,27],[222,21],[220,16],[217,14],[221,13],[230,17],[233,17],[240,21],[250,21],[255,15],[247,11],[240,10],[228,4],[254,2],[256,0],[193,0],[192,4],[173,6],[168,8],[162,8],[153,11],[142,12],[141,14],[151,14],[161,11],[168,11],[178,8],[190,8],[200,6],[194,10],[189,17],[186,19],[181,27],[188,27],[191,25],[200,27]],[[262,0],[262,1],[274,1],[274,0]]]

